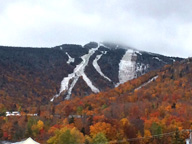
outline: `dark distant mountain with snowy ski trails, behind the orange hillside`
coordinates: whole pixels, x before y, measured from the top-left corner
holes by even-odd
[[[84,97],[181,60],[111,43],[0,46],[1,102],[35,105]]]

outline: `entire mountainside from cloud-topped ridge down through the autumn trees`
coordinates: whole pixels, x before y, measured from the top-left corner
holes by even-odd
[[[192,59],[99,45],[1,47],[0,140],[55,143],[71,134],[81,143],[98,137],[110,143],[185,143],[192,123]],[[137,70],[139,64],[146,71]],[[133,79],[123,83],[124,76]],[[92,93],[86,77],[99,93]],[[70,78],[71,98],[63,101],[69,89],[56,98]]]

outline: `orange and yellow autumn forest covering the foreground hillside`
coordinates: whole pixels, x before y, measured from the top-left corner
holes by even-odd
[[[184,144],[192,126],[191,81],[189,58],[114,89],[72,96],[57,104],[22,95],[20,104],[0,90],[0,139],[32,137],[41,144]],[[6,117],[6,111],[19,111],[21,116]]]

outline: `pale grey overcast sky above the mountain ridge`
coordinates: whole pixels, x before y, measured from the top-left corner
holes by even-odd
[[[0,45],[89,41],[192,56],[191,0],[0,0]]]

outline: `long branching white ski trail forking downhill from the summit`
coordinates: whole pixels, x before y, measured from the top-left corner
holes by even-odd
[[[91,90],[95,93],[99,92],[99,89],[97,89],[92,82],[89,80],[89,78],[85,75],[84,70],[87,66],[90,57],[95,53],[96,50],[100,47],[100,44],[98,44],[97,48],[92,48],[89,50],[88,54],[85,54],[81,57],[83,60],[80,64],[78,64],[75,69],[73,70],[73,73],[68,74],[67,77],[64,77],[61,81],[61,88],[59,94],[55,95],[50,101],[53,101],[56,97],[58,97],[63,91],[67,91],[67,96],[65,99],[70,99],[71,92],[73,90],[73,87],[77,83],[79,77],[83,77],[84,81],[87,83],[87,85],[91,88]],[[72,81],[72,82],[70,82]]]

